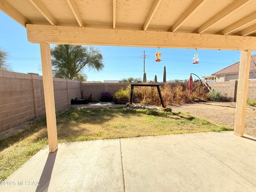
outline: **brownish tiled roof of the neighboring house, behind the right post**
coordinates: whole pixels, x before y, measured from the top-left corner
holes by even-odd
[[[256,71],[256,54],[252,55],[251,57],[251,68],[250,71]],[[238,73],[239,71],[239,62],[234,63],[224,69],[217,71],[212,75],[223,75],[223,74],[230,74],[230,73]]]

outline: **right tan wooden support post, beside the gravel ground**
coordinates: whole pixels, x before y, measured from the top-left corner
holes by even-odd
[[[239,76],[236,98],[236,115],[234,134],[243,137],[245,124],[245,109],[251,65],[251,50],[241,51]]]

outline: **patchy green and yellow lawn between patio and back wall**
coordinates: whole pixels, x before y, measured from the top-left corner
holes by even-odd
[[[0,140],[1,181],[47,145],[45,118],[28,126]],[[123,108],[70,108],[57,115],[57,129],[59,142],[231,130],[188,114]]]

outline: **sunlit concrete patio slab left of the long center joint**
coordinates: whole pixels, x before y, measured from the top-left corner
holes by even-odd
[[[0,191],[123,191],[122,177],[118,139],[63,143],[55,153],[40,150],[6,179],[17,185]]]

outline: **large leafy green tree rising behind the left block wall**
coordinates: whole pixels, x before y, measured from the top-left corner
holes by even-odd
[[[102,70],[102,54],[92,46],[56,45],[51,49],[54,77],[86,81],[85,67]]]

